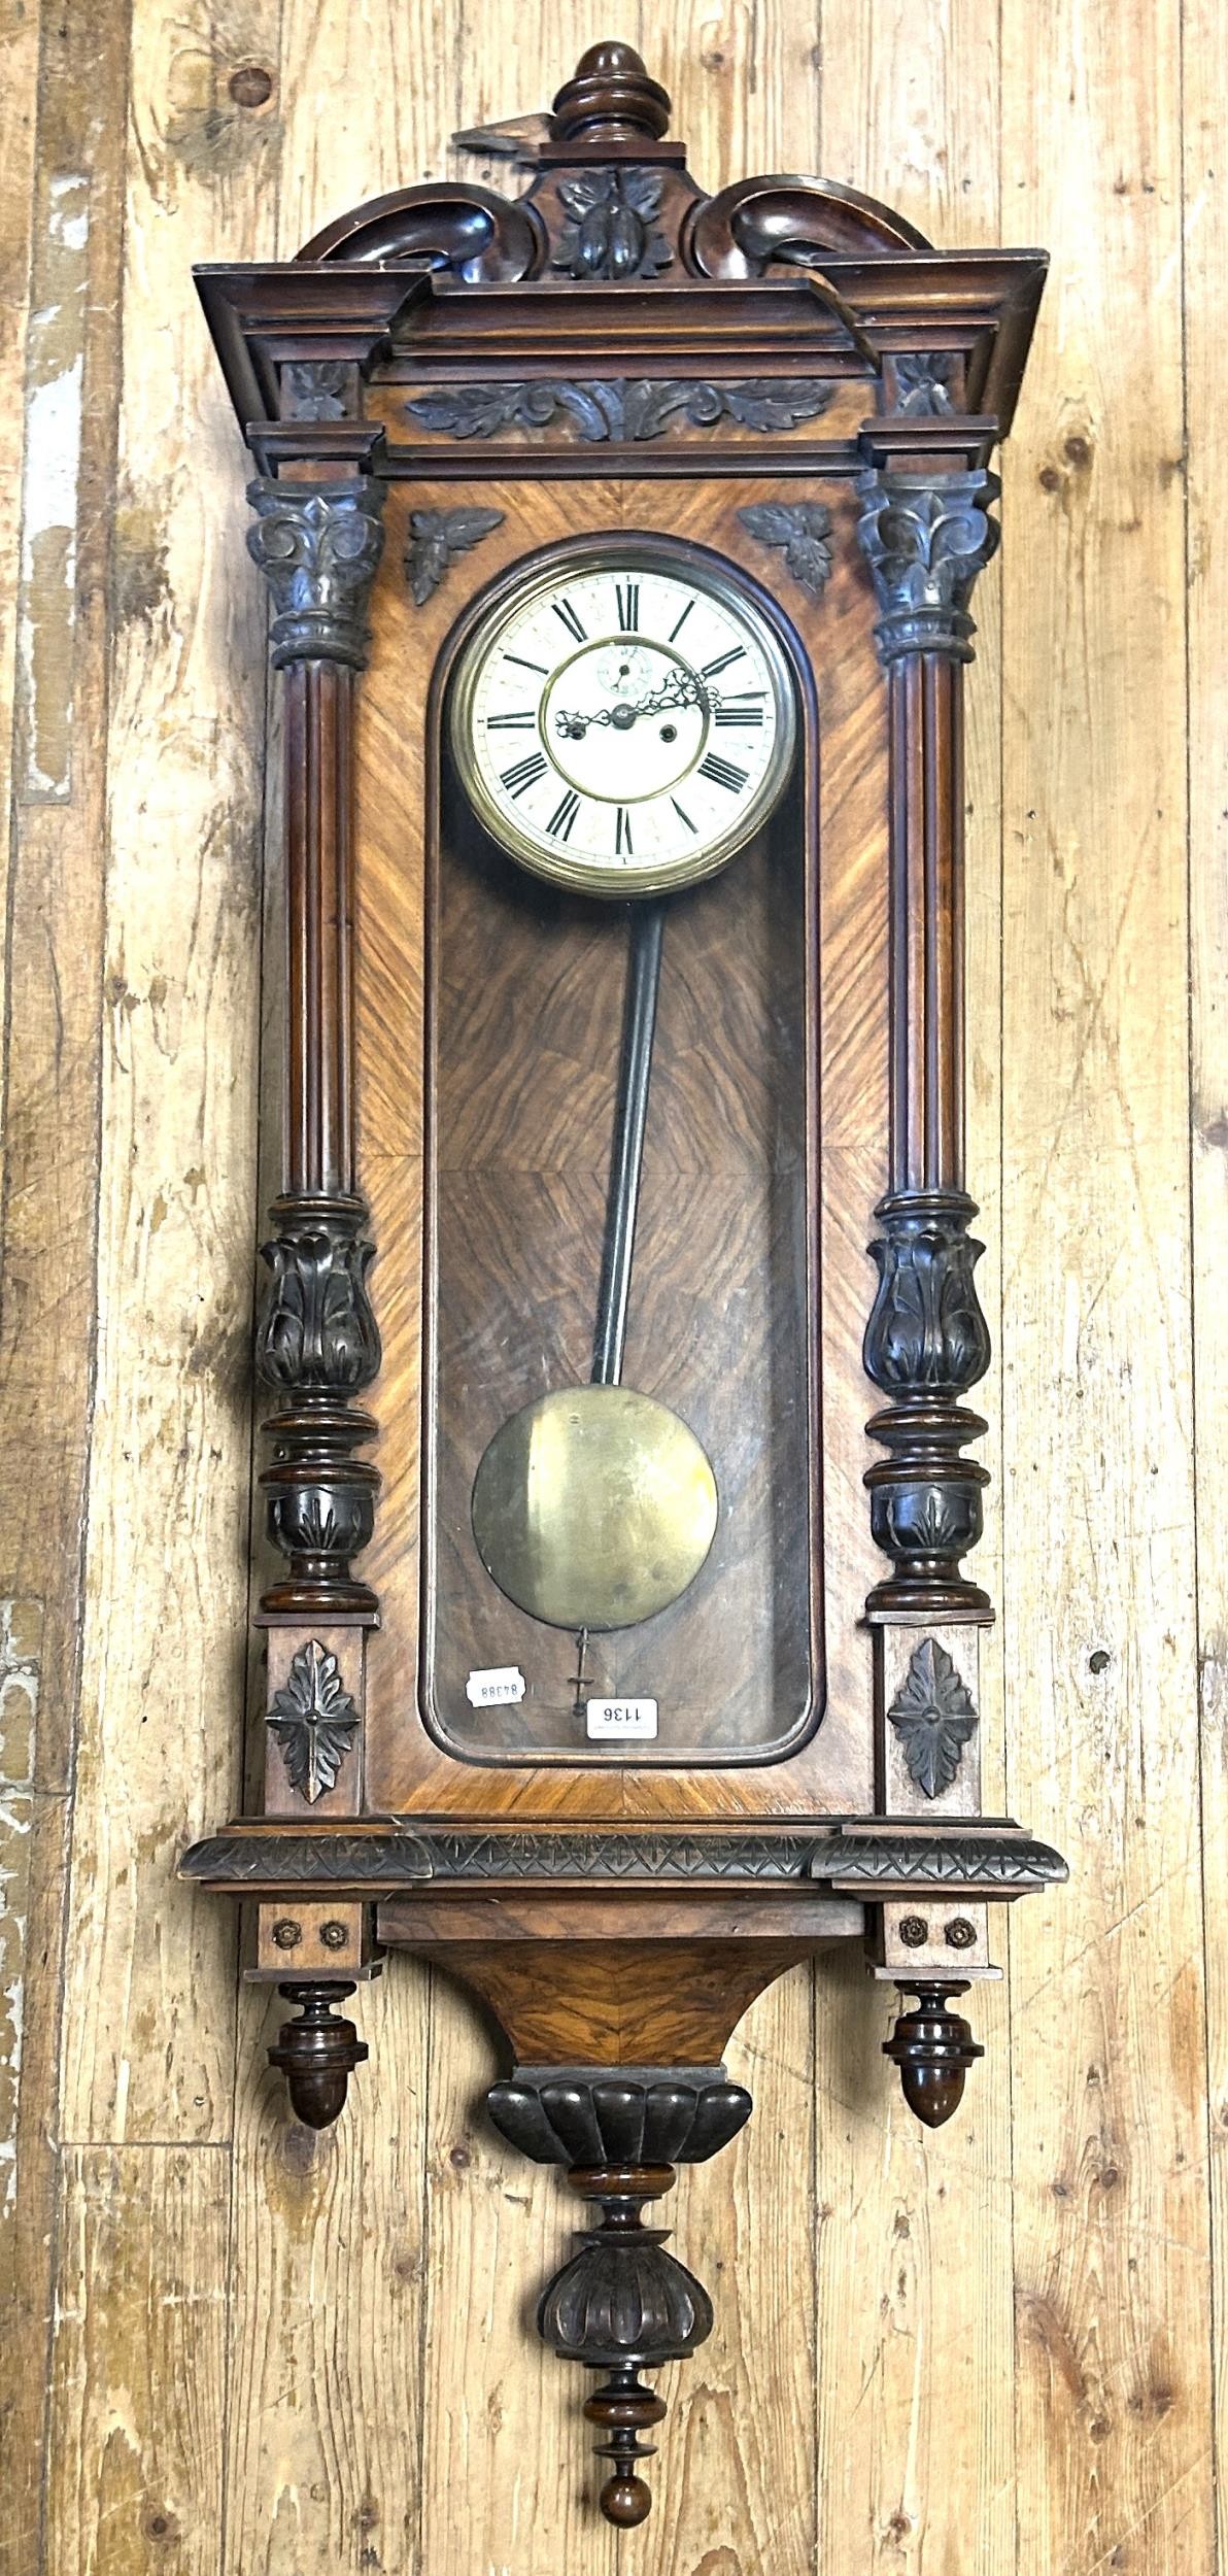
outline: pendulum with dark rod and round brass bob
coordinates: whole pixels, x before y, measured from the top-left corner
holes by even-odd
[[[662,930],[664,904],[636,904],[592,1378],[512,1414],[474,1479],[481,1564],[548,1628],[600,1633],[667,1610],[716,1535],[716,1476],[695,1432],[620,1383]]]

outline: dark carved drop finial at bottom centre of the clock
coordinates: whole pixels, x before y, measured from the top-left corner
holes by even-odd
[[[646,2228],[641,2208],[674,2187],[674,2164],[716,2156],[749,2120],[752,2097],[723,2066],[517,2066],[487,2094],[494,2128],[535,2164],[569,2164],[569,2184],[602,2208],[600,2228],[546,2285],[538,2334],[566,2362],[605,2370],[584,2406],[613,2460],[600,2491],[608,2522],[631,2527],[651,2512],[636,2470],[641,2442],[664,2416],[664,2398],[641,2370],[682,2362],[713,2331],[713,2303],[693,2272],[667,2254],[667,2228]]]

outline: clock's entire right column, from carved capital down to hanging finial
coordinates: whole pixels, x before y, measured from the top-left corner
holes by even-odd
[[[994,1615],[963,1571],[989,1484],[963,1455],[986,1430],[963,1399],[989,1368],[963,1139],[963,675],[968,600],[999,538],[989,518],[999,482],[978,461],[981,440],[983,428],[883,420],[862,438],[870,464],[857,482],[891,729],[891,1144],[865,1329],[865,1370],[886,1396],[868,1425],[886,1458],[865,1484],[891,1558],[865,1605],[875,1803],[886,1816],[937,1811],[953,1829],[981,1806],[978,1631]],[[878,1973],[916,1996],[886,2050],[911,2110],[937,2125],[981,2053],[947,2007],[994,1973],[986,1909],[942,1901],[940,1888],[924,1909],[883,1906]]]

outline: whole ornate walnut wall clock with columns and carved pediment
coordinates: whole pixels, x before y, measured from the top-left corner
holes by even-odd
[[[865,1940],[947,2120],[989,1904],[1063,1878],[981,1816],[963,1569],[963,683],[1045,263],[708,198],[667,121],[602,44],[469,137],[523,196],[198,273],[283,672],[283,1571],[263,1811],[183,1870],[312,2125],[396,1947],[494,2009],[492,2120],[600,2210],[538,2324],[623,2524],[713,2316],[641,2210],[749,2117],[744,2007]]]

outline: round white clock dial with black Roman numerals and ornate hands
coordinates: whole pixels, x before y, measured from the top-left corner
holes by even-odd
[[[463,652],[451,739],[520,866],[590,894],[667,894],[759,829],[793,757],[793,683],[736,572],[592,546],[538,567]]]

